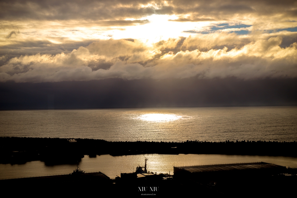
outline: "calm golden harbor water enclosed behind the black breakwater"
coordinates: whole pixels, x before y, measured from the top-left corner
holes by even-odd
[[[86,172],[101,171],[110,178],[121,175],[121,172],[133,172],[138,165],[144,166],[147,157],[147,169],[157,173],[172,174],[173,166],[196,164],[219,164],[235,162],[266,161],[286,167],[297,167],[297,158],[274,156],[240,156],[240,155],[208,155],[208,154],[179,154],[179,155],[130,155],[110,156],[101,155],[96,158],[85,156],[80,162],[80,168]],[[76,165],[45,166],[44,162],[31,161],[26,164],[0,164],[0,179],[13,177],[28,177],[37,175],[51,175],[71,173]]]

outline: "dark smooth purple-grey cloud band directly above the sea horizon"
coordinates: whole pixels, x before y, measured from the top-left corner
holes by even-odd
[[[297,104],[297,79],[0,83],[2,110],[289,104]]]

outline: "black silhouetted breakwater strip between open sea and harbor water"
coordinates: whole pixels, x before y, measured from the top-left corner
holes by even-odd
[[[108,142],[93,139],[0,137],[0,163],[40,160],[46,165],[76,164],[84,155],[227,154],[297,157],[297,142]]]

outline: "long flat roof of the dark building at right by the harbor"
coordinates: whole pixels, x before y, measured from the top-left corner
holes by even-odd
[[[286,168],[277,164],[267,162],[249,162],[249,163],[234,163],[234,164],[211,164],[211,165],[195,165],[176,167],[189,172],[209,172],[223,170],[248,170],[248,169],[267,169],[267,168]]]

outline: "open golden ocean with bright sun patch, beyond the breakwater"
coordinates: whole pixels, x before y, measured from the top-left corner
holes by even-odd
[[[297,141],[297,107],[0,111],[1,137]]]

